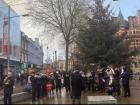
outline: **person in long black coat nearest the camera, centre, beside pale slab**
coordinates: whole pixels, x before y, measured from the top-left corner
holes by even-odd
[[[80,104],[81,92],[82,92],[82,77],[78,71],[76,71],[73,75],[71,86],[72,86],[71,97],[72,97],[73,104],[75,104],[76,99]]]

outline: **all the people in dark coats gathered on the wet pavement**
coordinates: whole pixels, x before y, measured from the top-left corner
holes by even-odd
[[[126,67],[98,66],[92,70],[55,70],[49,74],[33,71],[27,77],[27,85],[30,85],[32,101],[48,95],[61,95],[62,87],[71,96],[73,104],[78,100],[80,104],[81,93],[87,91],[107,92],[108,95],[121,96],[123,88],[124,97],[130,97],[130,72]],[[15,79],[12,72],[4,78],[4,103],[11,103],[11,95]]]

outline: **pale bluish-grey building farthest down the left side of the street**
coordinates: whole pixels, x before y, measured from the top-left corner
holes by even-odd
[[[43,66],[43,48],[39,44],[39,39],[33,41],[28,38],[28,67],[42,68]]]

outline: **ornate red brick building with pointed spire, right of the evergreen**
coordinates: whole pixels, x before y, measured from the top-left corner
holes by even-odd
[[[120,24],[120,30],[117,32],[117,35],[123,35],[126,32],[126,40],[129,40],[129,49],[135,50],[140,48],[140,10],[137,11],[136,16],[129,16],[128,17],[128,24],[124,20],[121,11],[117,17],[118,22]],[[140,68],[140,55],[133,56],[133,68],[139,69]]]

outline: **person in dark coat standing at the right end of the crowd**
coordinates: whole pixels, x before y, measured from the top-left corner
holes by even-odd
[[[124,72],[121,74],[122,78],[122,85],[124,88],[124,97],[130,96],[130,87],[129,87],[129,80],[130,80],[130,73],[124,68]]]

